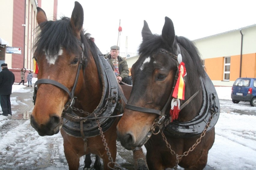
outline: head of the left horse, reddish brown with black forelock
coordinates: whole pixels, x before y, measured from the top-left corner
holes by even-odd
[[[80,90],[84,82],[80,67],[84,64],[86,53],[89,53],[85,52],[88,42],[83,42],[84,13],[81,4],[75,2],[70,19],[63,17],[47,21],[44,10],[39,7],[36,19],[40,32],[34,46],[34,58],[38,63],[38,80],[43,81],[37,84],[31,125],[40,136],[54,135],[61,128],[62,110],[72,91],[75,96],[82,95]]]

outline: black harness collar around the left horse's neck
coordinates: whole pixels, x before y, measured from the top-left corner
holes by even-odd
[[[86,117],[79,117],[70,108],[63,111],[62,117],[65,123],[62,128],[71,136],[82,138],[98,136],[100,133],[96,120],[99,120],[100,127],[105,132],[114,123],[117,110],[122,110],[122,106],[118,102],[119,91],[116,77],[108,65],[108,61],[105,60],[98,48],[97,50],[98,56],[94,58],[99,63],[97,69],[103,86],[102,99],[93,113],[88,113]]]

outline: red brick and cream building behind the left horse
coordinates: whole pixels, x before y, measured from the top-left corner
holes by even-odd
[[[56,20],[57,3],[58,0],[0,0],[0,37],[7,42],[0,44],[0,64],[8,64],[8,68],[15,75],[15,82],[20,82],[21,68],[27,69],[26,75],[29,70],[34,70],[32,47],[38,26],[36,7],[43,8],[49,20]],[[6,53],[6,47],[14,47],[21,52]],[[34,77],[36,76],[34,74]]]

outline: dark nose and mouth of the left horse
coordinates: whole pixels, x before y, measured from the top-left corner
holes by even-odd
[[[39,125],[32,115],[30,116],[30,124],[40,136],[52,136],[59,133],[62,125],[58,116],[52,116],[46,124]]]

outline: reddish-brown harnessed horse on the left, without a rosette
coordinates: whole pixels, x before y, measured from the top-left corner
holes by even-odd
[[[84,35],[81,4],[75,2],[70,19],[57,21],[47,21],[44,10],[37,10],[40,32],[34,58],[39,73],[31,125],[40,136],[60,130],[69,169],[78,169],[79,158],[90,153],[101,157],[104,169],[109,169],[117,152],[116,78],[89,35]]]

